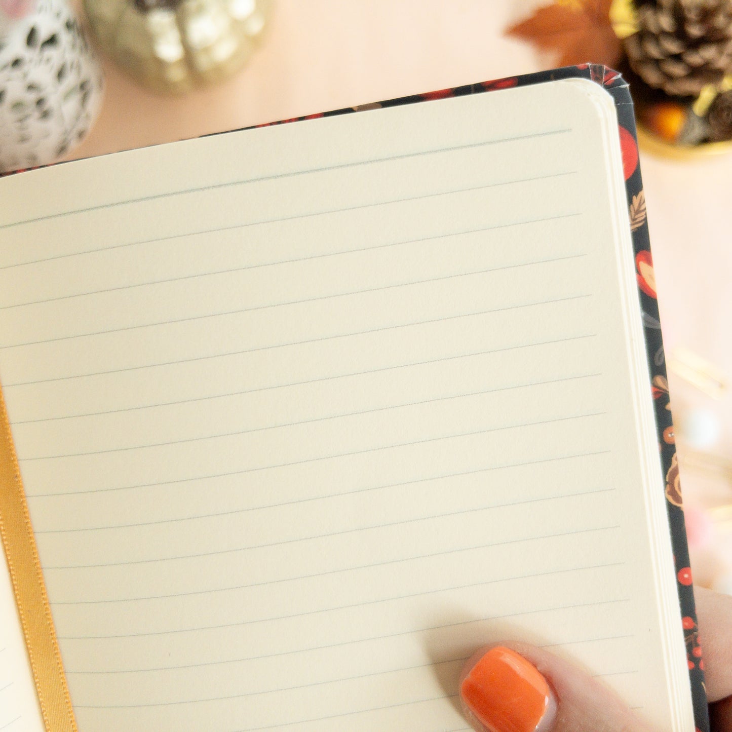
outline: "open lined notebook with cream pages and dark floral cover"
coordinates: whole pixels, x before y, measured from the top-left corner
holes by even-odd
[[[1,180],[0,729],[35,683],[54,732],[458,732],[506,638],[703,728],[629,104],[583,67]]]

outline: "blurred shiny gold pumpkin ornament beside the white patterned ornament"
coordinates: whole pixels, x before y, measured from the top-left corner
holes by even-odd
[[[102,48],[135,79],[180,94],[238,71],[270,0],[84,0]]]

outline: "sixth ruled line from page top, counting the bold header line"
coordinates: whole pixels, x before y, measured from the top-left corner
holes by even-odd
[[[266,392],[271,389],[284,389],[288,386],[305,386],[306,384],[319,384],[323,381],[332,381],[337,378],[349,378],[351,376],[365,376],[367,374],[381,373],[384,371],[397,370],[400,368],[409,368],[413,366],[426,366],[430,364],[441,363],[445,361],[452,361],[457,359],[468,359],[475,356],[488,356],[489,354],[504,353],[505,351],[513,351],[518,348],[534,348],[536,346],[551,346],[555,343],[567,343],[570,340],[583,340],[585,338],[597,337],[597,333],[584,333],[582,335],[571,335],[563,338],[555,338],[554,340],[539,340],[534,343],[520,343],[517,346],[504,346],[504,348],[491,348],[488,351],[473,351],[469,354],[457,354],[455,356],[440,356],[437,359],[427,359],[425,361],[413,361],[406,364],[396,364],[389,366],[381,366],[375,369],[367,369],[364,371],[349,371],[347,373],[333,374],[332,376],[321,376],[319,378],[305,379],[304,381],[288,381],[285,384],[271,384],[269,386],[258,386],[255,389],[242,389],[236,392],[227,392],[225,394],[214,394],[206,397],[193,397],[190,399],[179,399],[170,402],[157,402],[154,404],[141,404],[130,407],[122,407],[118,409],[106,409],[95,412],[84,412],[83,414],[65,414],[59,417],[40,417],[38,419],[14,419],[14,425],[31,425],[35,422],[55,422],[59,419],[81,419],[81,417],[97,417],[104,414],[120,414],[122,412],[138,411],[141,409],[154,409],[157,407],[176,406],[179,404],[191,404],[195,402],[203,402],[214,399],[224,399],[227,397],[239,397],[244,394],[254,394],[255,392]],[[229,354],[227,354],[229,355]],[[236,355],[236,354],[231,354]],[[215,358],[216,356],[211,356]],[[224,357],[224,356],[222,356]],[[81,377],[69,377],[69,378],[81,378]],[[31,382],[32,383],[32,382]],[[20,386],[20,384],[15,384]],[[5,389],[10,387],[5,386]]]

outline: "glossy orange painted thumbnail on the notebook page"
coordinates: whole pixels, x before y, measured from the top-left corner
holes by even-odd
[[[460,693],[490,732],[534,732],[553,703],[549,684],[536,667],[503,646],[480,658]]]

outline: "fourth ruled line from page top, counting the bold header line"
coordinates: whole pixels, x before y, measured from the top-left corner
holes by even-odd
[[[506,269],[518,269],[520,267],[536,266],[537,264],[552,264],[553,262],[567,261],[569,259],[578,259],[587,256],[586,253],[577,253],[566,255],[562,257],[555,257],[550,259],[542,259],[531,262],[522,262],[520,264],[507,264],[499,267],[492,267],[490,269],[471,270],[470,272],[458,272],[455,275],[443,275],[442,277],[428,277],[425,280],[411,280],[403,283],[394,283],[391,285],[381,285],[379,287],[364,288],[362,290],[351,290],[347,292],[337,292],[327,295],[318,295],[316,297],[307,297],[299,300],[286,300],[283,302],[272,302],[266,305],[253,305],[252,307],[241,307],[236,310],[223,310],[218,313],[203,313],[202,315],[190,315],[186,318],[171,318],[167,321],[156,321],[153,323],[141,323],[130,326],[124,326],[120,328],[108,328],[105,330],[97,330],[88,333],[76,333],[74,335],[63,335],[55,338],[45,338],[42,340],[29,340],[23,343],[10,343],[5,346],[0,346],[0,350],[8,348],[22,348],[23,346],[39,346],[43,343],[58,343],[63,340],[74,340],[75,338],[86,338],[94,337],[97,335],[111,335],[113,333],[129,332],[132,330],[140,330],[143,328],[154,328],[157,326],[167,326],[179,323],[191,323],[193,321],[207,320],[208,318],[220,318],[226,315],[241,315],[242,313],[254,313],[259,310],[270,310],[277,307],[288,307],[291,305],[305,305],[308,302],[321,302],[324,300],[337,299],[339,297],[351,297],[354,295],[364,295],[372,292],[384,292],[386,290],[394,290],[402,287],[413,287],[414,285],[427,285],[433,282],[443,282],[447,280],[456,280],[460,277],[474,277],[478,275],[488,275],[490,272],[501,272]]]

